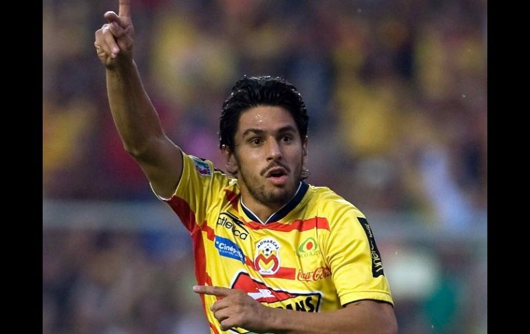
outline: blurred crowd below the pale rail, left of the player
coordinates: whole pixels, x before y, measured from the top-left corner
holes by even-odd
[[[208,333],[191,291],[188,239],[157,231],[44,231],[43,334]]]

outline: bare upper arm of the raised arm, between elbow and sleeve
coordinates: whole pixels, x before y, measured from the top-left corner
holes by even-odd
[[[162,198],[171,198],[182,176],[180,148],[165,137],[154,140],[145,154],[135,158],[153,191]]]

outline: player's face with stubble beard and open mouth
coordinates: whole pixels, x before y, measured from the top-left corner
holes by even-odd
[[[302,143],[293,117],[282,107],[253,107],[240,115],[234,137],[234,150],[226,156],[244,200],[284,205],[298,188],[307,158],[307,141]]]

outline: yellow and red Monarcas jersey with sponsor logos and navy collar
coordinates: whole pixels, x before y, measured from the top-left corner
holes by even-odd
[[[266,306],[341,309],[357,300],[393,305],[381,255],[365,216],[327,187],[301,181],[295,196],[261,222],[240,200],[237,179],[182,152],[182,178],[165,202],[191,233],[200,285],[241,289]],[[222,331],[201,295],[211,333]]]

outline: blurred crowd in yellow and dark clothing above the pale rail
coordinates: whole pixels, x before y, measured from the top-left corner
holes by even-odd
[[[169,138],[224,163],[222,102],[284,76],[308,106],[308,181],[363,210],[465,228],[487,206],[485,1],[133,0],[134,56]],[[118,1],[43,1],[43,196],[153,200],[94,50]]]

